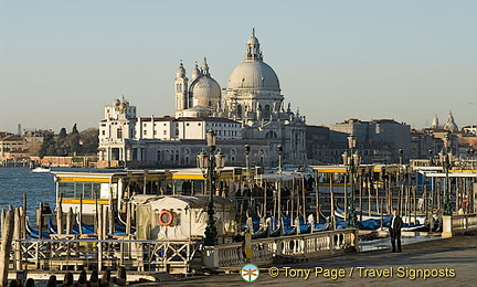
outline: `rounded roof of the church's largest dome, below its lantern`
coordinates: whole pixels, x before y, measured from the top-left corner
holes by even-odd
[[[256,88],[279,92],[278,76],[262,61],[244,62],[232,72],[227,89]]]

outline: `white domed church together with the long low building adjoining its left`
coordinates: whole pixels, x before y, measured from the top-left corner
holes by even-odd
[[[306,119],[284,107],[278,76],[263,61],[253,31],[244,62],[232,72],[225,92],[211,76],[206,59],[192,70],[182,63],[174,78],[174,117],[138,117],[136,107],[117,99],[99,124],[100,166],[193,166],[205,147],[209,129],[227,164],[243,166],[243,146],[251,146],[251,164],[275,166],[277,146],[286,163],[306,162]]]

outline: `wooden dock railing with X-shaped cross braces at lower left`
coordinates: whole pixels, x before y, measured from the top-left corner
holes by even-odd
[[[201,241],[14,240],[10,261],[19,269],[103,269],[189,274]],[[20,248],[20,249],[18,249]]]

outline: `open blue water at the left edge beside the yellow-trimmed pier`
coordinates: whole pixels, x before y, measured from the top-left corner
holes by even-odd
[[[26,215],[35,217],[35,209],[40,201],[50,203],[52,210],[55,203],[55,183],[50,172],[32,172],[29,168],[0,167],[0,209],[9,205],[23,205],[23,193],[26,193]]]

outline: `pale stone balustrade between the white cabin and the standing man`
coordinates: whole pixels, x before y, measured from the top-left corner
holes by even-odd
[[[242,243],[205,246],[202,263],[209,268],[237,267],[246,263]],[[252,240],[254,264],[272,264],[280,256],[319,257],[358,252],[358,230],[316,232],[274,238]]]

